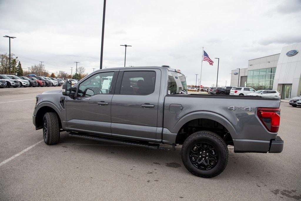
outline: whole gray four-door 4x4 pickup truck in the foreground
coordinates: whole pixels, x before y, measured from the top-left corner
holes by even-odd
[[[36,96],[33,124],[44,141],[60,132],[103,142],[158,149],[182,145],[192,174],[214,177],[234,152],[280,153],[280,99],[187,94],[185,76],[167,67],[106,68],[74,86]]]

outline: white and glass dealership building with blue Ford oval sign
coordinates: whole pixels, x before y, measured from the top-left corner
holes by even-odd
[[[231,71],[230,86],[246,86],[255,90],[273,89],[281,99],[301,94],[301,42],[285,46],[280,54],[248,61],[248,68]]]

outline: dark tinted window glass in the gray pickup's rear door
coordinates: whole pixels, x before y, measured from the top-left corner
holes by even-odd
[[[155,91],[155,71],[125,71],[123,73],[120,94],[149,95]]]

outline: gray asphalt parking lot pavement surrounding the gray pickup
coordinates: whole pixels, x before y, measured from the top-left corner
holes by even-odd
[[[57,145],[46,145],[32,123],[35,96],[57,89],[0,89],[1,200],[301,200],[299,107],[281,102],[282,153],[234,153],[229,147],[225,171],[205,179],[186,170],[181,146],[151,150],[66,132]]]

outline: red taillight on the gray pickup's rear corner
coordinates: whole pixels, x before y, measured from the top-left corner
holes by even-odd
[[[268,131],[277,133],[280,124],[280,108],[258,108],[257,116]]]

